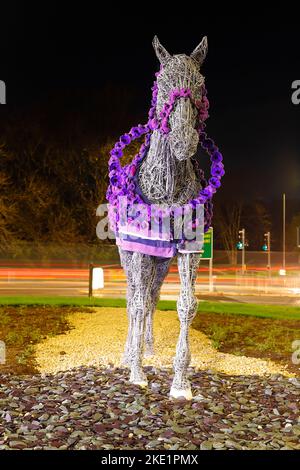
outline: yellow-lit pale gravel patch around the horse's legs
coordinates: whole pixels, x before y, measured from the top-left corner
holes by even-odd
[[[37,344],[35,357],[42,373],[56,373],[80,366],[121,365],[127,332],[126,310],[94,308],[92,312],[69,315],[71,330],[64,335],[48,337]],[[179,335],[177,313],[156,312],[154,322],[155,356],[146,365],[172,367]],[[284,366],[269,360],[218,352],[200,331],[191,329],[191,365],[201,370],[213,369],[234,375],[284,374]]]

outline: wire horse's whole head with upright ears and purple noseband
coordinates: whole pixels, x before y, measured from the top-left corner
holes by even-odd
[[[199,143],[198,108],[205,81],[200,68],[207,54],[207,38],[191,55],[172,56],[157,36],[153,47],[161,64],[156,113],[161,118],[161,130],[169,131],[172,153],[178,160],[186,160],[195,155]]]

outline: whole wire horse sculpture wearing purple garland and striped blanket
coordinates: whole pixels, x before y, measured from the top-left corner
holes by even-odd
[[[109,222],[127,277],[129,327],[123,361],[130,367],[130,381],[146,386],[142,359],[154,353],[153,314],[177,255],[180,334],[170,396],[191,399],[187,371],[189,327],[198,305],[195,283],[203,233],[211,226],[212,198],[225,172],[222,154],[205,132],[209,102],[200,67],[207,54],[207,38],[190,56],[172,56],[156,36],[153,46],[161,67],[152,88],[148,122],[122,135],[109,160]],[[139,153],[122,167],[124,148],[142,136]],[[209,181],[196,156],[199,143],[210,156]],[[192,237],[177,230],[183,226],[186,211]],[[200,236],[195,236],[195,230]]]

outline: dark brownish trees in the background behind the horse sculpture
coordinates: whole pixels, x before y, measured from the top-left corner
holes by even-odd
[[[138,115],[128,115],[128,100],[108,87],[99,95],[83,98],[73,92],[6,114],[1,109],[1,253],[20,240],[97,243],[96,209],[105,202],[109,150],[120,133],[143,122]],[[260,249],[268,230],[274,231],[274,248],[280,249],[272,208],[263,200],[224,201],[221,195],[214,212],[216,248],[225,249],[232,262],[240,228],[247,230],[250,249]],[[291,249],[298,223],[299,216],[288,225]]]

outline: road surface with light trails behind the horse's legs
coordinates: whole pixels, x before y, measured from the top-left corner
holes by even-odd
[[[70,267],[1,267],[0,297],[2,296],[87,296],[88,269]],[[162,287],[162,299],[176,299],[179,293],[176,268]],[[199,272],[196,294],[200,299],[260,304],[300,305],[300,290],[294,281],[246,275],[242,279],[229,273],[214,276],[213,290],[205,270]],[[94,292],[96,297],[125,297],[126,279],[119,266],[104,267],[104,289]]]

